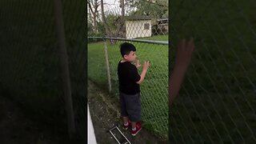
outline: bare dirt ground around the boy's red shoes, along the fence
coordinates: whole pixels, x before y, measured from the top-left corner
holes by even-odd
[[[163,141],[154,134],[150,134],[145,128],[133,137],[130,134],[130,128],[128,130],[122,129],[122,119],[119,114],[119,103],[117,98],[114,98],[106,91],[101,90],[93,82],[88,82],[88,103],[92,122],[94,125],[94,132],[96,140],[99,144],[113,144],[118,143],[114,140],[112,135],[106,131],[111,127],[118,125],[118,128],[129,139],[132,144],[165,144]]]

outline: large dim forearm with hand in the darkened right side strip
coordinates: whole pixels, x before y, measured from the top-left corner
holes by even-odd
[[[186,74],[187,67],[190,64],[192,57],[192,52],[194,50],[194,41],[193,38],[190,39],[190,42],[186,42],[185,39],[178,45],[178,52],[176,57],[176,62],[174,65],[174,70],[170,75],[170,85],[169,85],[169,95],[170,95],[170,104],[174,102],[174,98],[178,95],[178,91],[181,88],[184,75]]]

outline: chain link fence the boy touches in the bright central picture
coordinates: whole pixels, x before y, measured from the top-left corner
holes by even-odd
[[[122,60],[119,46],[123,42],[133,43],[137,59],[142,66],[146,60],[150,61],[150,68],[141,85],[142,126],[161,138],[167,138],[168,19],[140,14],[127,14],[122,17],[119,9],[105,12],[106,23],[110,26],[106,36],[88,37],[88,77],[106,90],[109,88],[118,102],[117,69],[118,62]],[[142,66],[138,68],[139,74],[142,72]]]

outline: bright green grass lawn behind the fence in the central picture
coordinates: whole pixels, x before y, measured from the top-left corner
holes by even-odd
[[[158,39],[156,39],[158,38]],[[162,40],[168,37],[156,37],[154,40]],[[113,95],[118,98],[117,67],[122,59],[118,41],[111,45],[108,42],[108,54],[110,62],[110,76]],[[168,130],[168,47],[156,44],[131,42],[136,46],[137,59],[143,63],[150,60],[150,68],[141,85],[142,90],[142,120],[144,127],[154,131],[155,134],[167,137]],[[142,67],[139,68],[141,73]],[[103,42],[90,43],[88,45],[88,76],[99,85],[107,88],[106,64]]]

